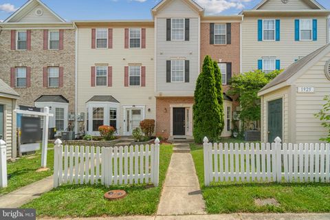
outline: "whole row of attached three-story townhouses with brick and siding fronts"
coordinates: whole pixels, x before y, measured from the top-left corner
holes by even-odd
[[[330,11],[314,0],[263,0],[230,16],[163,0],[151,12],[152,20],[67,22],[30,0],[0,23],[0,78],[21,95],[19,105],[50,107],[58,131],[72,124],[98,135],[109,124],[131,135],[153,118],[156,135],[191,136],[204,56],[219,63],[227,91],[234,74],[284,69],[329,39]],[[223,136],[234,111],[225,96]]]

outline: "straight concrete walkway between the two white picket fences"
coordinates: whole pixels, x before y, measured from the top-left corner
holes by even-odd
[[[205,214],[195,165],[190,153],[173,153],[157,215]]]

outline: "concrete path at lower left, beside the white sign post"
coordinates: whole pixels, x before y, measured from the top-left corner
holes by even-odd
[[[53,176],[46,177],[0,197],[1,208],[19,208],[53,188]]]

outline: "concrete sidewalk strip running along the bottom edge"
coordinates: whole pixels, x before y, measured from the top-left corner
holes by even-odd
[[[50,220],[50,218],[45,218]],[[197,214],[177,216],[131,216],[131,217],[93,217],[76,218],[73,220],[329,220],[330,214],[263,214],[263,213],[234,213],[234,214]],[[69,220],[69,219],[61,219]]]

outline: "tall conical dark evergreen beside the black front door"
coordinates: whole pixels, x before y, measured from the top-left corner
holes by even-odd
[[[216,141],[219,137],[221,127],[223,127],[223,117],[221,117],[218,96],[214,78],[214,62],[210,56],[206,56],[195,89],[195,104],[193,106],[195,142],[203,142],[205,136],[210,141]]]

